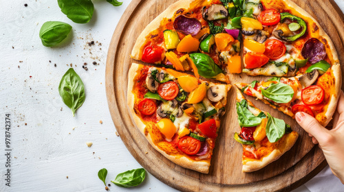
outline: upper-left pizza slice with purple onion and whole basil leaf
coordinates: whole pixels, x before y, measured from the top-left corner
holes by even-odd
[[[173,3],[142,31],[131,57],[229,83],[228,73],[241,73],[238,18],[253,14],[247,2],[180,0]]]

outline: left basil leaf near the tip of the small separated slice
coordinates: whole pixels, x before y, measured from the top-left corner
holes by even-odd
[[[237,102],[237,115],[241,127],[254,127],[261,123],[261,118],[255,117],[246,107],[245,104]],[[247,104],[246,104],[247,105]]]

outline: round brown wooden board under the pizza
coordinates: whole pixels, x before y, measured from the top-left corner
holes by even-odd
[[[144,27],[175,1],[133,0],[111,39],[106,67],[107,100],[116,130],[133,157],[153,176],[181,191],[291,191],[319,173],[327,163],[321,149],[312,144],[308,134],[290,117],[252,97],[248,99],[258,108],[292,125],[293,130],[299,132],[299,139],[290,151],[264,169],[253,173],[241,172],[242,147],[233,139],[233,133],[239,130],[234,107],[235,87],[228,95],[226,117],[222,121],[208,174],[175,165],[149,145],[133,122],[127,106],[127,73],[132,62],[142,63],[132,60],[130,53]],[[338,53],[343,53],[344,15],[338,5],[332,0],[294,2],[319,21]],[[338,56],[344,63],[344,55]],[[230,79],[232,83],[252,80],[266,80],[266,77],[242,74],[233,75]]]

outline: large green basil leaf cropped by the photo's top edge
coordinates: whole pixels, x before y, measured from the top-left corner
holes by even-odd
[[[91,0],[57,0],[58,6],[74,23],[88,23],[92,19],[94,5]]]

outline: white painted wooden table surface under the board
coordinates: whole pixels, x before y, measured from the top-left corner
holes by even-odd
[[[336,2],[343,10],[344,1]],[[61,12],[56,0],[0,0],[0,191],[105,191],[99,169],[108,170],[107,183],[111,183],[118,173],[141,167],[116,136],[105,95],[107,49],[129,3],[114,7],[105,0],[94,0],[92,20],[76,24]],[[43,47],[39,30],[45,21],[69,23],[72,36],[58,47]],[[95,45],[90,47],[92,40]],[[58,84],[70,64],[86,90],[76,117],[58,94]],[[6,114],[12,123],[11,187],[5,185]],[[316,184],[311,180],[308,188],[303,185],[296,191],[329,189],[329,184],[331,189],[338,186],[338,191],[344,191],[334,176],[324,175],[330,182],[317,178]],[[109,189],[175,191],[149,173],[135,189],[114,184]]]

